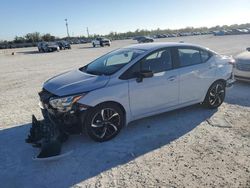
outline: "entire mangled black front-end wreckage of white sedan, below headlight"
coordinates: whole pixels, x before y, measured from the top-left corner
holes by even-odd
[[[25,141],[41,148],[37,158],[48,158],[60,154],[61,145],[69,135],[82,132],[87,108],[75,104],[70,111],[59,112],[49,105],[52,94],[43,90],[39,96],[44,120],[38,121],[32,116],[32,126]]]

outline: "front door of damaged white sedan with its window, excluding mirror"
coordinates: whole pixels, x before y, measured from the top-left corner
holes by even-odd
[[[171,49],[157,50],[134,65],[134,72],[152,71],[153,77],[129,79],[130,109],[134,117],[164,111],[178,104],[179,74],[173,69]]]

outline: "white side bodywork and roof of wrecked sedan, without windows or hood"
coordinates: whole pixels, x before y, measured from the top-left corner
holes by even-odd
[[[203,63],[155,73],[138,83],[136,78],[120,79],[120,76],[142,57],[163,48],[195,48],[208,51],[212,56]],[[90,91],[78,103],[96,106],[112,101],[126,112],[126,123],[143,117],[201,103],[209,87],[218,80],[231,86],[234,82],[230,57],[221,56],[207,48],[186,43],[139,44],[127,48],[143,49],[146,54],[135,58],[110,76],[105,87]]]

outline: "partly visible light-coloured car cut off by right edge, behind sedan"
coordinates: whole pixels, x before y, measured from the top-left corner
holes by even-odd
[[[235,79],[250,81],[250,48],[235,57],[234,75]]]

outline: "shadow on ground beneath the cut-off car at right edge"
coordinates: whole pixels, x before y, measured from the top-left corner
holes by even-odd
[[[227,91],[225,102],[250,107],[250,83],[236,81],[233,88]]]

